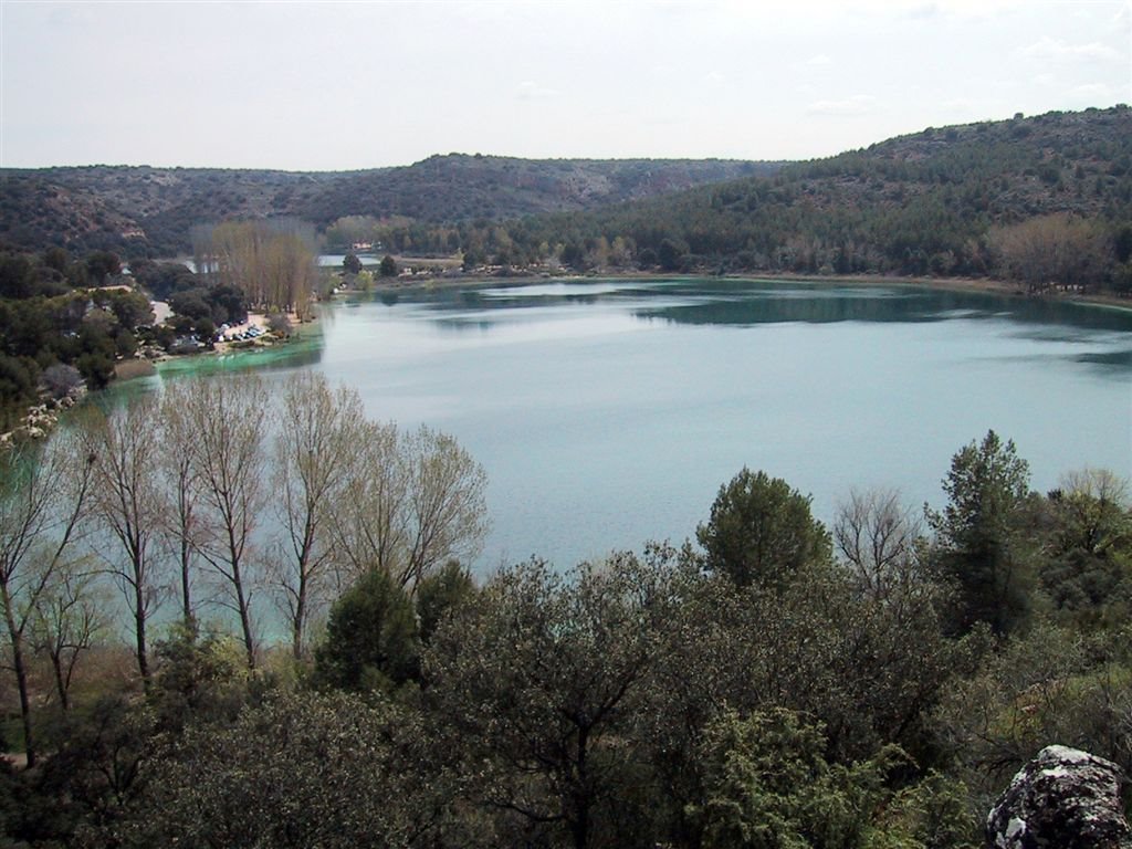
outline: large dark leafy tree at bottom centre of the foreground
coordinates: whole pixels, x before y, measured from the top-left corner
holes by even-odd
[[[484,770],[471,801],[509,841],[589,846],[598,812],[640,780],[625,735],[677,627],[674,558],[615,555],[568,578],[515,566],[434,634],[424,694],[465,767]]]

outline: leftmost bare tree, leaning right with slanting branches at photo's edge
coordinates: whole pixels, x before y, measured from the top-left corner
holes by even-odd
[[[9,667],[19,691],[27,765],[36,761],[27,680],[27,631],[36,604],[76,541],[94,458],[59,431],[42,453],[23,446],[0,452],[0,603]]]

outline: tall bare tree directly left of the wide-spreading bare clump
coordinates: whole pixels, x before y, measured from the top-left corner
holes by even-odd
[[[310,618],[326,600],[324,590],[337,566],[331,514],[340,482],[350,475],[362,445],[365,426],[354,389],[332,391],[326,378],[314,372],[288,384],[275,439],[276,506],[284,531],[276,581],[295,658],[302,657]]]

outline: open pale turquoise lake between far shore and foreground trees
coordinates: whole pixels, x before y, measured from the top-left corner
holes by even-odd
[[[249,355],[248,361],[255,361]],[[268,355],[357,387],[368,412],[455,436],[487,469],[480,572],[693,537],[744,465],[813,495],[942,506],[988,429],[1046,490],[1132,474],[1132,311],[906,286],[548,282],[325,308]],[[204,365],[204,363],[201,363]]]

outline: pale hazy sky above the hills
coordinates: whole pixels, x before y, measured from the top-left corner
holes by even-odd
[[[0,0],[0,166],[807,160],[1132,103],[1130,0]]]

